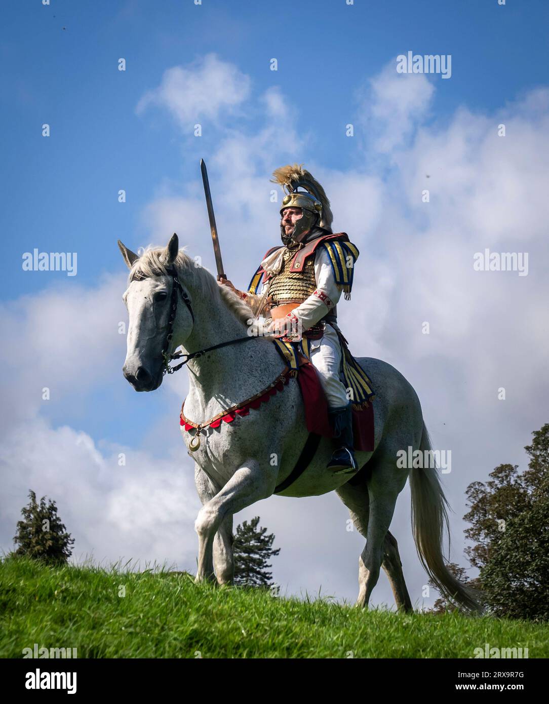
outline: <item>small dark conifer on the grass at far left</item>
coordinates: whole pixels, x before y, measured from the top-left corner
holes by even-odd
[[[67,562],[75,541],[58,517],[55,501],[46,504],[46,498],[42,496],[38,504],[34,491],[29,491],[29,498],[29,505],[21,509],[23,520],[18,521],[13,539],[19,547],[14,554],[57,565]]]

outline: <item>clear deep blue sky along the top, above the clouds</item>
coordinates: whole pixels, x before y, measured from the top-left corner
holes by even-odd
[[[438,81],[432,106],[431,118],[441,122],[462,103],[480,111],[505,104],[542,84],[547,67],[543,1],[36,0],[8,4],[3,14],[2,230],[12,234],[4,274],[11,296],[42,286],[16,265],[22,248],[72,251],[77,243],[79,280],[92,282],[118,265],[113,237],[131,241],[139,209],[160,182],[198,179],[199,158],[207,159],[219,138],[215,125],[182,156],[170,120],[134,114],[141,94],[173,65],[215,52],[255,86],[281,86],[301,108],[305,88],[310,108],[302,109],[298,129],[313,132],[310,148],[332,168],[355,165],[340,127],[357,111],[357,87],[392,56],[409,49],[452,54],[453,76]],[[277,72],[269,70],[272,57]],[[257,126],[253,113],[244,120]],[[43,122],[51,125],[49,139]],[[119,188],[127,191],[123,207]]]

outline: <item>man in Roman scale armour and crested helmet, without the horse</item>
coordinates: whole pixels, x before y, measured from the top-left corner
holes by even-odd
[[[336,441],[327,467],[336,473],[355,472],[353,388],[341,382],[348,351],[337,326],[336,303],[343,291],[346,299],[351,297],[358,249],[346,233],[332,232],[329,200],[308,171],[288,165],[273,177],[286,192],[280,208],[282,246],[267,251],[248,291],[239,291],[227,279],[220,284],[243,298],[256,317],[266,316],[267,330],[274,337],[303,340],[301,350],[316,367],[327,397]],[[288,332],[296,327],[298,334]],[[360,384],[360,379],[355,383]]]

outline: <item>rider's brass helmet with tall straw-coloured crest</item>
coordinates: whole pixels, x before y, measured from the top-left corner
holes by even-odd
[[[280,235],[284,244],[297,244],[315,225],[332,232],[330,201],[320,183],[303,169],[303,164],[282,166],[272,176],[272,183],[281,184],[286,193],[280,208],[281,216],[284,208],[301,208],[303,211],[290,235],[286,235],[284,225],[280,223]],[[299,188],[305,190],[299,191]]]

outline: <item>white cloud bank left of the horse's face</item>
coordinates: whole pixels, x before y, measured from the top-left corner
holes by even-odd
[[[75,389],[86,394],[105,383],[114,368],[121,374],[125,336],[118,325],[127,318],[124,289],[121,273],[91,289],[67,282],[0,305],[2,330],[11,342],[0,348],[9,382],[1,408],[4,428],[39,412],[44,387],[49,403],[69,408],[79,403]]]

